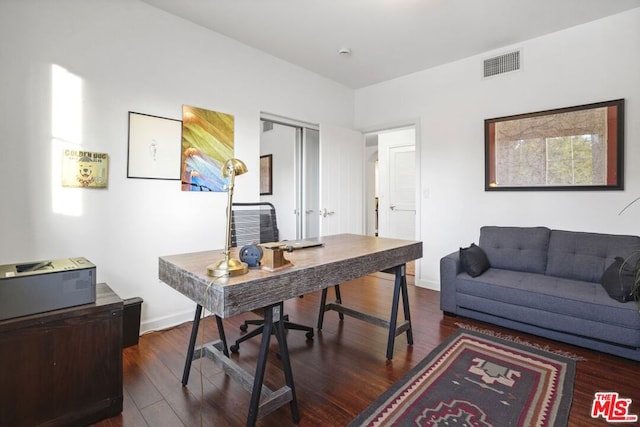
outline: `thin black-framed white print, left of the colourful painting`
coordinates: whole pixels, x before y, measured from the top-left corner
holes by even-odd
[[[180,179],[182,122],[129,112],[127,178]]]

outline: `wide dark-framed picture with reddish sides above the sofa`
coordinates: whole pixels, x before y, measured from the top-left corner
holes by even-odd
[[[485,190],[623,190],[624,99],[485,120]]]

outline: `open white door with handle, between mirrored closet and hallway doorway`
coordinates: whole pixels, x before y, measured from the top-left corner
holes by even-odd
[[[364,137],[320,125],[320,234],[363,234]]]

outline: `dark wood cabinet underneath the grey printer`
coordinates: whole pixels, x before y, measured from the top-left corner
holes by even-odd
[[[0,322],[0,426],[87,425],[122,412],[123,303],[96,302]]]

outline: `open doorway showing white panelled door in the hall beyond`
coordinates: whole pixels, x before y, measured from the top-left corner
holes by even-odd
[[[415,130],[378,135],[380,237],[416,238]]]

